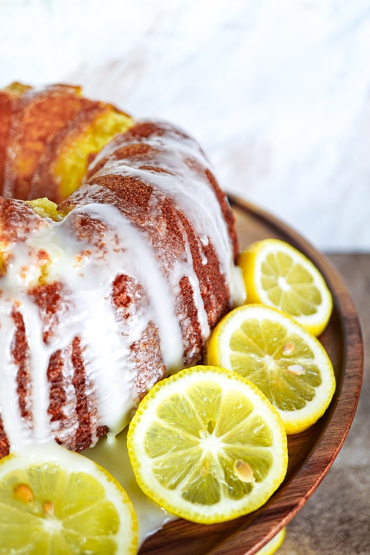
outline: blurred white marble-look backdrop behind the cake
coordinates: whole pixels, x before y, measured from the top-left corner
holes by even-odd
[[[326,251],[370,250],[369,58],[367,0],[0,0],[0,86],[171,119]]]

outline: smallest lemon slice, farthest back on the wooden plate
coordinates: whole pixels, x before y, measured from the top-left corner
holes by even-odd
[[[318,336],[328,324],[333,298],[316,266],[280,239],[263,239],[239,255],[248,302],[261,302],[293,316]]]

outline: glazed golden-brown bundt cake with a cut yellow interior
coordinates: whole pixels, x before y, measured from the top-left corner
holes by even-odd
[[[199,362],[237,238],[194,139],[81,89],[0,92],[0,456],[81,451]]]

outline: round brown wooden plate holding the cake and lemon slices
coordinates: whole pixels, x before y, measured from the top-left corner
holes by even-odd
[[[321,270],[333,293],[333,316],[320,340],[333,362],[337,391],[324,416],[289,436],[289,466],[283,485],[259,511],[221,524],[175,520],[148,538],[140,555],[253,555],[303,507],[333,464],[351,426],[360,396],[363,346],[355,307],[328,260],[296,232],[244,200],[230,196],[240,248],[265,237],[296,246]]]

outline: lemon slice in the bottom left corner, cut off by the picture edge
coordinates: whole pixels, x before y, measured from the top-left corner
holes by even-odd
[[[137,520],[115,479],[85,456],[32,445],[0,461],[0,554],[136,554]]]

